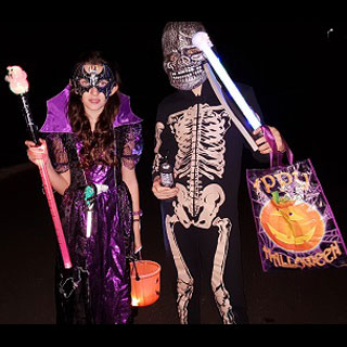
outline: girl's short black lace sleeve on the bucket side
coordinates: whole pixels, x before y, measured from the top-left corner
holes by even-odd
[[[126,126],[124,130],[121,164],[132,170],[140,162],[143,151],[142,125]]]

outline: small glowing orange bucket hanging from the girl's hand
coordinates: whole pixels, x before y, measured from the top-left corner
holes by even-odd
[[[139,260],[130,264],[131,305],[133,307],[150,306],[160,295],[162,267],[154,261]]]

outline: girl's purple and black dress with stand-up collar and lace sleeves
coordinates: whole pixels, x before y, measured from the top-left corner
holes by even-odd
[[[56,316],[61,324],[126,324],[131,322],[130,267],[133,258],[132,204],[121,181],[121,164],[134,168],[142,154],[142,119],[119,94],[114,124],[115,167],[95,165],[85,170],[79,157],[81,142],[67,118],[69,87],[48,101],[41,129],[55,170],[70,170],[72,183],[60,205],[73,269],[56,265]],[[98,187],[90,235],[87,234],[87,187]]]

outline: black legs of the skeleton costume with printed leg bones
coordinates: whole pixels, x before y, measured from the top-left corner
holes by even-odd
[[[164,210],[163,210],[164,211]],[[229,221],[229,222],[228,222]],[[178,279],[181,323],[201,323],[202,277],[210,279],[211,295],[224,324],[248,323],[243,290],[239,222],[220,219],[218,226],[185,229],[163,217],[167,253]]]

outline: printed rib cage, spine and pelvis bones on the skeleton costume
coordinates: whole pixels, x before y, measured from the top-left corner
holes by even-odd
[[[180,183],[180,221],[188,228],[191,223],[209,229],[213,219],[224,201],[222,189],[218,184],[203,187],[205,177],[214,181],[224,172],[224,134],[231,126],[228,113],[221,106],[196,104],[183,112],[172,114],[167,125],[176,138],[178,153],[175,163],[175,176]],[[197,221],[194,219],[198,218]]]

